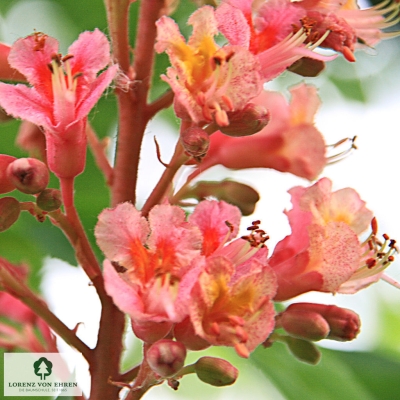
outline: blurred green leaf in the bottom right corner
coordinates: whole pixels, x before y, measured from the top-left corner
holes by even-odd
[[[393,400],[400,393],[400,360],[374,353],[322,350],[317,366],[296,361],[281,344],[257,349],[251,361],[288,400]]]

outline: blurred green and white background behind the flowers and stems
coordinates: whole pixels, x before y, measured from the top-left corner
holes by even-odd
[[[364,4],[365,6],[365,4]],[[185,21],[195,9],[194,3],[181,0],[173,17],[187,33]],[[131,10],[131,43],[135,36],[137,4]],[[99,28],[107,33],[106,16],[100,0],[1,0],[0,41],[12,44],[34,31],[59,39],[60,50],[68,46],[84,30]],[[326,143],[357,135],[359,150],[343,161],[328,166],[323,175],[331,178],[334,188],[353,187],[367,201],[378,218],[380,232],[400,238],[400,41],[382,42],[376,49],[356,53],[357,62],[348,63],[342,57],[329,63],[321,76],[305,79],[290,72],[267,85],[288,95],[288,87],[306,81],[319,88],[322,106],[316,125]],[[157,56],[152,96],[167,89],[157,76],[168,60]],[[115,141],[117,132],[116,104],[110,90],[90,115],[94,129],[101,137]],[[177,120],[171,111],[162,112],[151,122],[145,135],[139,180],[140,206],[157,182],[163,167],[155,156],[153,136],[161,146],[164,161],[172,154],[177,140]],[[14,146],[19,122],[0,125],[0,152],[15,156],[25,154]],[[110,146],[112,158],[112,145]],[[201,179],[234,178],[256,188],[261,200],[253,216],[243,219],[243,231],[254,219],[262,221],[274,245],[290,232],[282,213],[290,208],[287,190],[307,185],[303,179],[272,170],[229,171],[215,167]],[[52,187],[57,187],[55,180]],[[23,195],[19,195],[24,199]],[[108,206],[109,193],[101,173],[88,154],[87,169],[76,182],[77,208],[93,240],[93,227],[99,212]],[[101,253],[96,248],[99,258]],[[50,223],[39,224],[30,215],[7,232],[0,234],[0,256],[13,262],[27,262],[31,268],[30,283],[42,293],[51,309],[68,326],[83,322],[78,334],[90,346],[96,343],[99,302],[85,275],[77,268],[73,252],[63,235]],[[400,262],[396,261],[388,274],[400,281]],[[296,299],[297,300],[297,299]],[[322,360],[309,366],[294,359],[281,344],[270,349],[258,349],[249,360],[240,359],[231,349],[212,349],[191,353],[189,361],[203,354],[226,357],[240,369],[237,383],[228,388],[214,388],[187,376],[177,392],[166,384],[156,387],[145,399],[243,399],[252,400],[393,400],[400,393],[400,292],[385,282],[379,282],[354,296],[309,294],[301,300],[337,304],[361,315],[362,331],[351,343],[322,341]],[[73,350],[60,342],[63,352]],[[129,368],[140,361],[140,343],[131,334],[126,336],[123,365]],[[0,369],[3,368],[2,362]],[[86,392],[87,367],[77,366],[77,374]],[[3,373],[0,370],[0,381]],[[2,388],[1,388],[2,389]],[[0,395],[1,397],[1,395]],[[38,398],[39,397],[35,397]],[[48,397],[46,397],[48,398]]]

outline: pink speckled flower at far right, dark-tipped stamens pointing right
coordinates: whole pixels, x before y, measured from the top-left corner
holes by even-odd
[[[357,192],[331,192],[331,186],[322,178],[309,188],[289,191],[293,208],[286,214],[292,233],[277,244],[270,259],[278,277],[276,300],[312,290],[354,293],[380,279],[392,261],[394,241],[379,244],[375,229],[360,241],[373,215]]]

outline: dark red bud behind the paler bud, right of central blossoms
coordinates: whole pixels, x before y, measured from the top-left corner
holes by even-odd
[[[360,332],[360,318],[352,310],[340,308],[334,305],[296,303],[288,307],[291,311],[308,311],[320,314],[329,324],[329,334],[326,337],[341,342],[350,341],[356,338]]]

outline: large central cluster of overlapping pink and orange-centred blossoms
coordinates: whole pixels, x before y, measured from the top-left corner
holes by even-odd
[[[239,222],[239,209],[222,201],[199,203],[187,221],[170,205],[148,221],[129,203],[100,214],[106,290],[139,338],[155,342],[175,325],[190,349],[226,345],[247,357],[268,337],[275,274],[260,232],[231,241]]]

